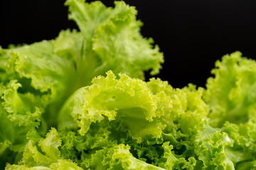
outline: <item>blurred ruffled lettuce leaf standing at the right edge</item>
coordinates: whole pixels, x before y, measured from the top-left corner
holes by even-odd
[[[203,98],[209,104],[210,124],[221,127],[225,121],[246,123],[256,118],[256,62],[240,52],[225,55],[212,70]]]

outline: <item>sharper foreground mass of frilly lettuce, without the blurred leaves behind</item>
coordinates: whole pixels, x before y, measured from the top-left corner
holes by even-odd
[[[109,71],[68,98],[59,132],[29,140],[7,168],[253,169],[256,120],[215,127],[209,91]]]

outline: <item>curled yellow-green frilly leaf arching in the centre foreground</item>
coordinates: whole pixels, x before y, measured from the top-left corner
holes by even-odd
[[[157,117],[171,108],[169,98],[164,94],[152,94],[146,83],[140,79],[132,79],[125,74],[119,74],[119,77],[116,79],[113,72],[107,72],[106,78],[93,79],[92,86],[78,90],[67,101],[59,121],[62,122],[66,116],[70,117],[71,113],[78,122],[80,134],[85,135],[92,123],[100,122],[106,117],[110,121],[120,122],[138,141],[142,141],[146,135],[160,137],[165,126]],[[164,97],[166,100],[161,100]],[[69,125],[60,123],[63,124]]]

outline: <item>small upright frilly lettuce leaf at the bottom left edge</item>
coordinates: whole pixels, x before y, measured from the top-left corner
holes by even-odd
[[[52,128],[45,139],[38,142],[29,140],[18,165],[8,165],[6,169],[82,169],[69,159],[60,157],[60,145],[58,132]]]

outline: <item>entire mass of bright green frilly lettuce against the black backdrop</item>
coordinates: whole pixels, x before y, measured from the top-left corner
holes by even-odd
[[[0,169],[255,169],[254,60],[225,55],[206,89],[144,81],[164,60],[134,7],[65,5],[79,31],[0,47]]]

